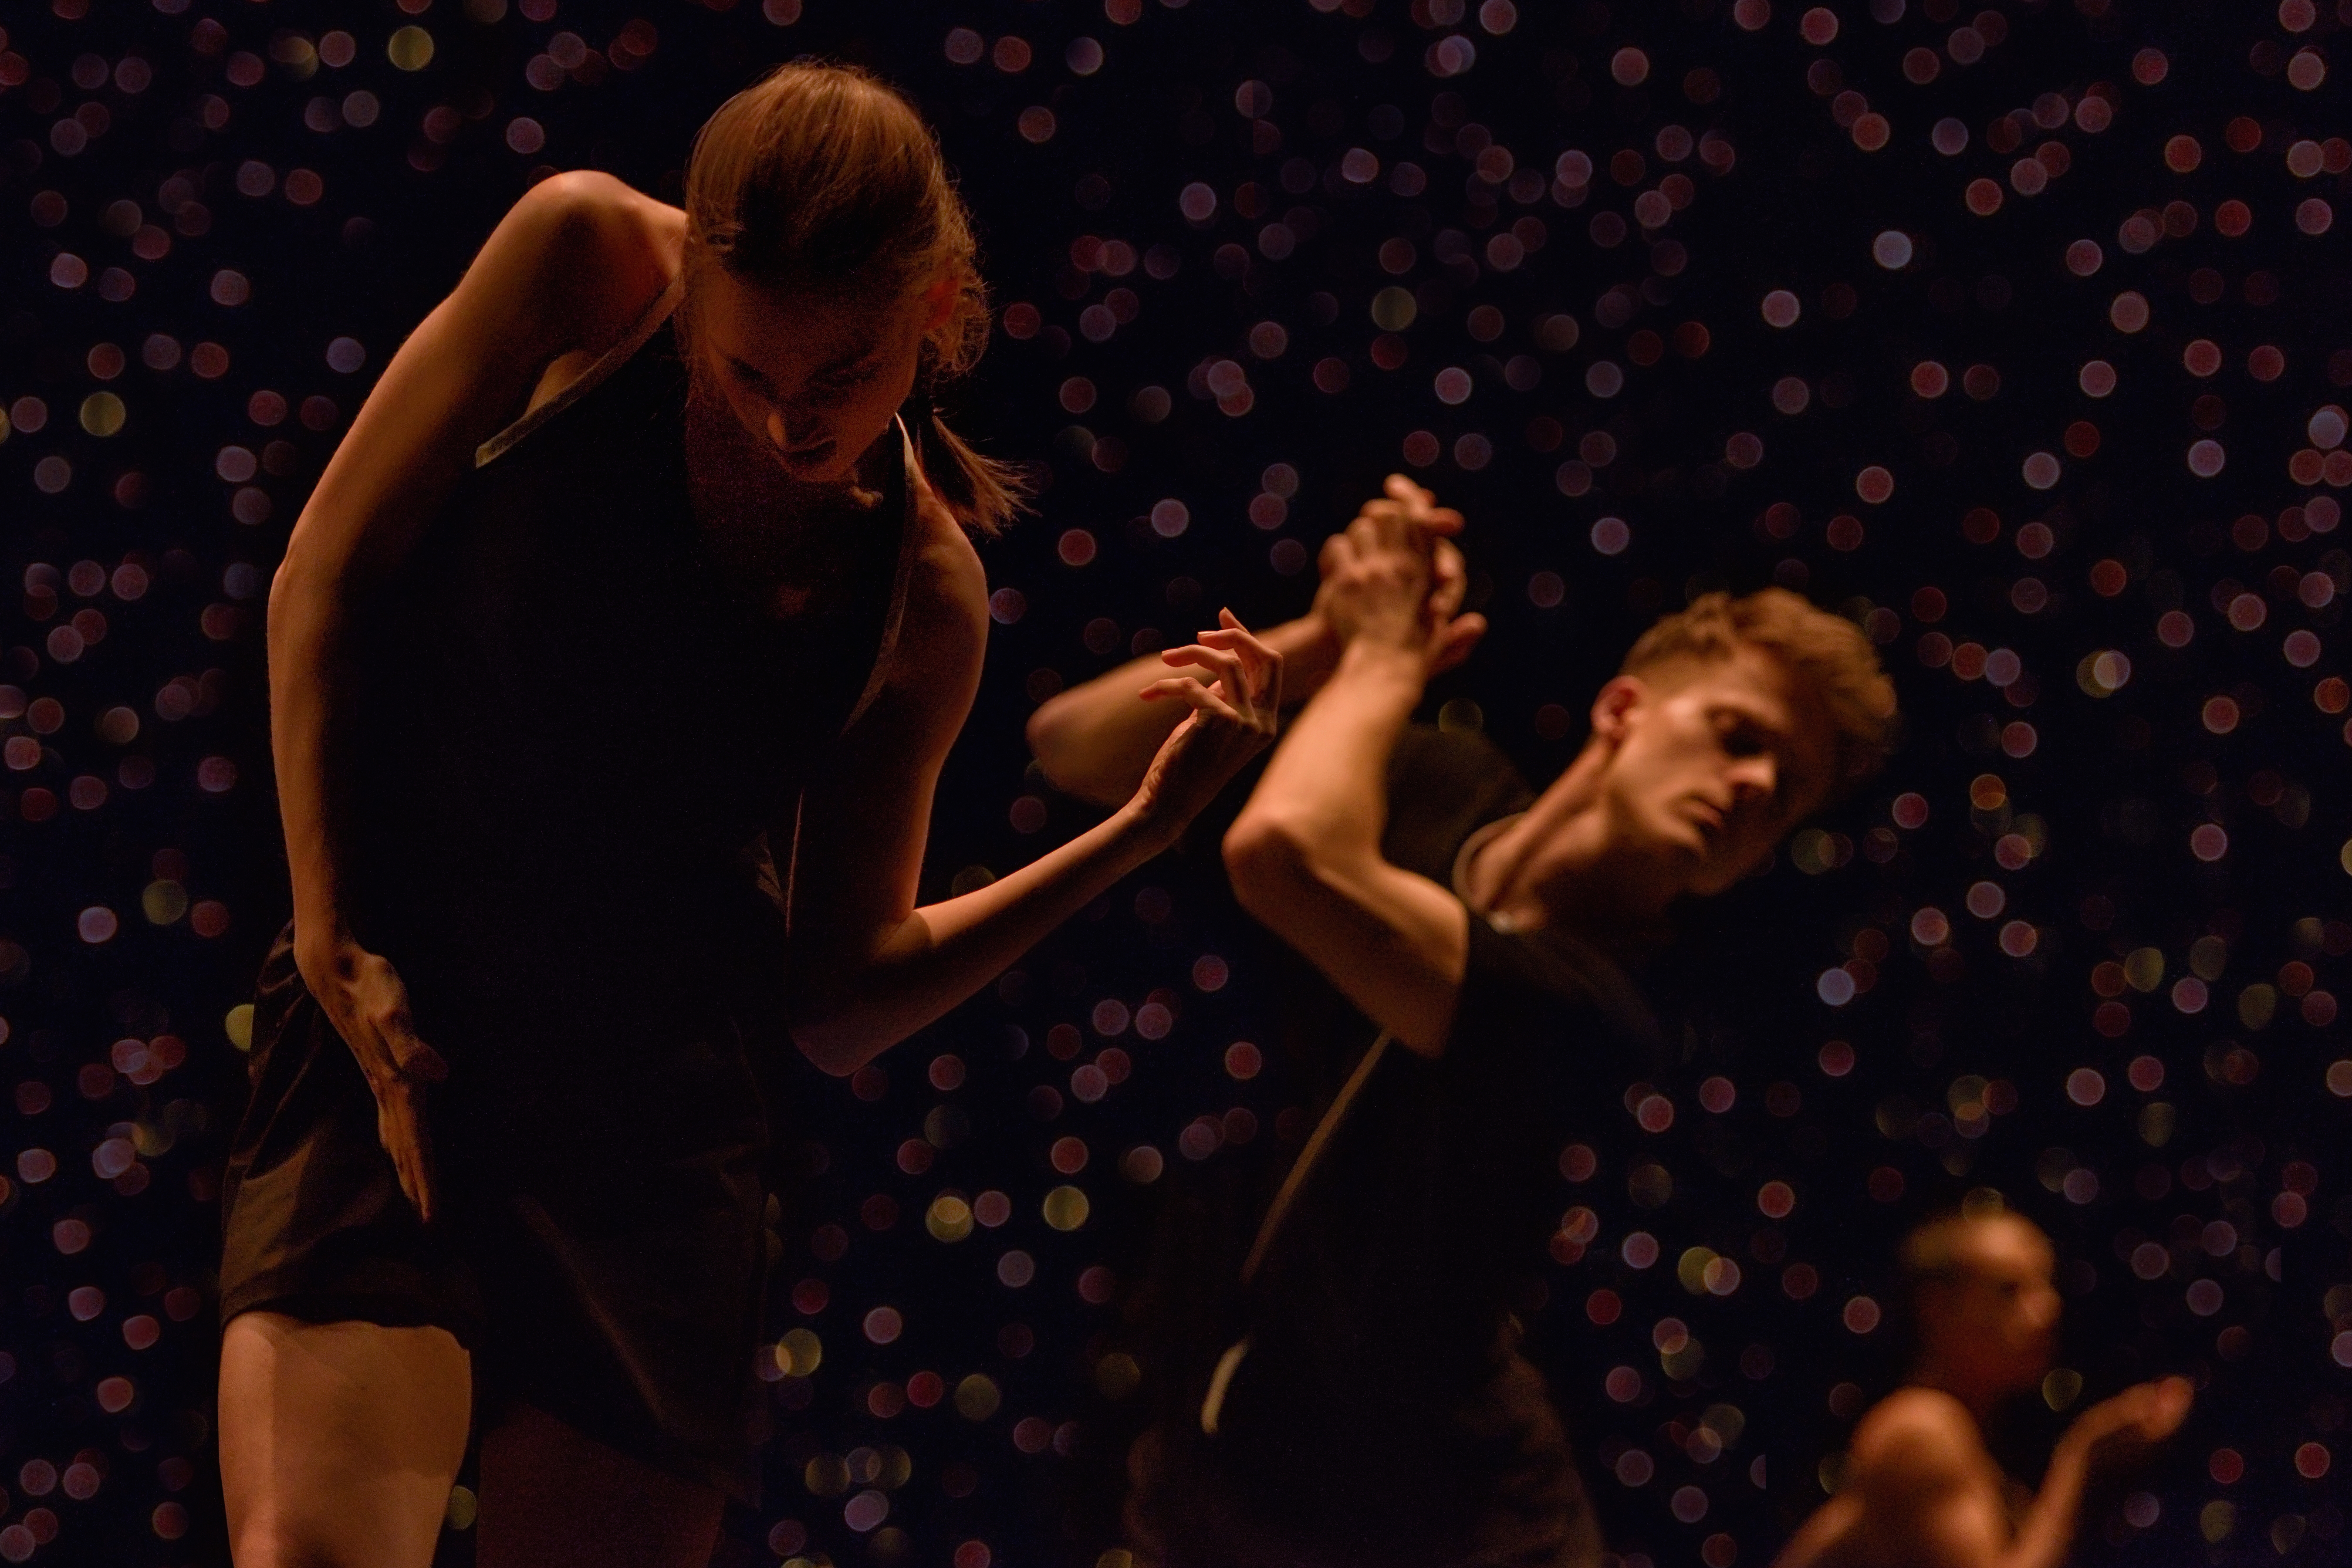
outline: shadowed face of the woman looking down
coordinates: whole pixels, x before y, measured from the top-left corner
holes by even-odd
[[[743,428],[802,484],[835,484],[915,388],[927,331],[953,308],[936,282],[901,299],[781,294],[713,266],[694,280],[703,371]]]

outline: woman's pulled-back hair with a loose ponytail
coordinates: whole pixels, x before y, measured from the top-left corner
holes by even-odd
[[[788,292],[849,292],[896,303],[946,273],[948,317],[922,343],[924,393],[969,371],[988,346],[971,216],[931,127],[898,92],[854,66],[795,61],[720,103],[687,162],[687,310],[710,266]],[[936,411],[924,477],[971,529],[995,534],[1025,482],[981,456]]]

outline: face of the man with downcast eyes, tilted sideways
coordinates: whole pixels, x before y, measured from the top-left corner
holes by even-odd
[[[1828,795],[1830,719],[1757,646],[1621,675],[1595,703],[1595,729],[1611,726],[1609,827],[1668,898],[1722,893]]]

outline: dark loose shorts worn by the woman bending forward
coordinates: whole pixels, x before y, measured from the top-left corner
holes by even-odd
[[[376,1143],[367,1079],[280,936],[223,1178],[223,1324],[268,1309],[447,1328],[473,1352],[485,1420],[529,1403],[757,1502],[762,1100],[741,1039],[720,1030],[654,1037],[647,1058],[569,1063],[576,1105],[501,1093],[515,1084],[454,1063],[428,1105],[442,1199],[426,1227]]]

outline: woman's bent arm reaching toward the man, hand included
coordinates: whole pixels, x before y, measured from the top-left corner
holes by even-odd
[[[788,872],[786,1006],[793,1041],[826,1072],[854,1072],[931,1023],[1169,849],[1272,741],[1282,696],[1282,658],[1225,616],[1160,663],[1152,701],[1185,717],[1117,811],[985,889],[915,907],[931,795],[971,710],[988,635],[988,583],[971,545],[936,503],[922,527],[901,651],[837,764],[802,797]]]

